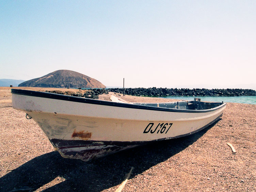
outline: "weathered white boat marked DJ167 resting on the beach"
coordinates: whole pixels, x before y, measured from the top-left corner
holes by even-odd
[[[150,142],[184,137],[218,121],[226,103],[131,103],[12,89],[12,106],[44,131],[64,158],[88,161]],[[113,101],[114,100],[114,101]]]

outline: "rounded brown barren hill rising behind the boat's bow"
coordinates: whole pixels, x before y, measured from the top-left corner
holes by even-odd
[[[101,82],[70,70],[57,70],[43,77],[20,83],[19,87],[106,88]]]

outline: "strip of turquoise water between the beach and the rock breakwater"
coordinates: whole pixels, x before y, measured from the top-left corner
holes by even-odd
[[[167,96],[163,98],[170,99],[181,99],[181,100],[194,100],[194,98],[201,98],[201,101],[211,101],[211,102],[231,102],[231,103],[247,103],[247,104],[256,104],[256,96],[237,96],[237,97],[192,97],[192,96]]]

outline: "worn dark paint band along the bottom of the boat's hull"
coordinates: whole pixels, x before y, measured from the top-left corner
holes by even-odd
[[[133,148],[137,147],[140,145],[145,145],[149,143],[153,143],[156,141],[162,141],[162,140],[169,140],[169,139],[174,139],[174,138],[180,138],[180,137],[185,137],[187,135],[191,135],[193,133],[196,133],[198,131],[203,130],[204,128],[210,126],[214,122],[218,121],[223,113],[215,118],[212,122],[208,123],[207,125],[203,126],[200,129],[197,129],[193,132],[183,134],[183,135],[178,135],[176,137],[170,137],[170,138],[162,138],[162,139],[157,139],[157,140],[152,140],[152,141],[84,141],[84,140],[61,140],[61,139],[51,139],[51,143],[53,144],[54,147],[58,148],[59,153],[62,156],[70,157],[70,158],[75,158],[75,159],[81,159],[83,161],[89,161],[90,159],[95,159],[98,157],[110,155],[113,153],[116,153],[121,150],[125,150],[128,148]],[[97,147],[97,146],[102,146],[102,149],[86,149],[87,147]],[[84,147],[85,149],[80,150],[80,151],[72,151],[68,149],[71,148],[77,148],[77,147]],[[108,151],[107,153],[103,153],[103,151]]]

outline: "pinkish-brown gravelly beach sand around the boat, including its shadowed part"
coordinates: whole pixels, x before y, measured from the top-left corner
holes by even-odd
[[[175,101],[114,95],[132,102]],[[0,87],[0,191],[115,191],[131,167],[123,191],[256,191],[256,105],[227,103],[220,121],[193,135],[83,162],[62,158],[11,101],[11,87]]]

